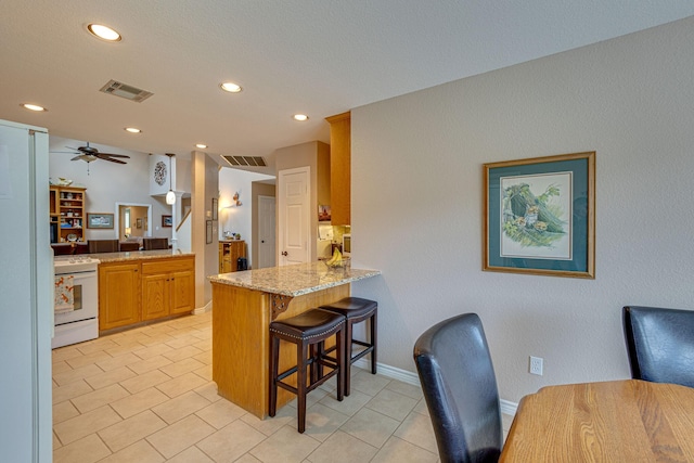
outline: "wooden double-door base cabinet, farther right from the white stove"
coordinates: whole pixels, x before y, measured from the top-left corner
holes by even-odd
[[[195,308],[195,259],[142,262],[142,320],[154,320]]]

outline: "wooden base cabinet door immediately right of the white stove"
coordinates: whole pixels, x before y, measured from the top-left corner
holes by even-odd
[[[140,263],[99,266],[99,329],[140,321]]]

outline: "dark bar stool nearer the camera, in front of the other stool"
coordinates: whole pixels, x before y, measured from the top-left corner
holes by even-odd
[[[324,343],[336,335],[336,359],[325,356]],[[297,364],[278,373],[280,363],[280,339],[296,344]],[[345,372],[345,317],[321,309],[311,309],[299,316],[270,323],[270,416],[278,407],[278,387],[296,394],[298,432],[306,429],[306,395],[337,375],[337,400],[342,401],[343,375]],[[332,350],[332,349],[330,349]],[[309,376],[306,368],[309,368]],[[323,374],[323,366],[331,369]],[[296,373],[296,387],[282,380]]]

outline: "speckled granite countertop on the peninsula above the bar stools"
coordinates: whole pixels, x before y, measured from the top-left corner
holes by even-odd
[[[207,276],[207,279],[213,283],[296,297],[380,274],[381,270],[352,269],[350,267],[333,269],[327,268],[323,261],[318,261],[221,273]]]

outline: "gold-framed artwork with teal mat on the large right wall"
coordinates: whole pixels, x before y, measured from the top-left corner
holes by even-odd
[[[595,152],[484,165],[483,270],[595,278]]]

